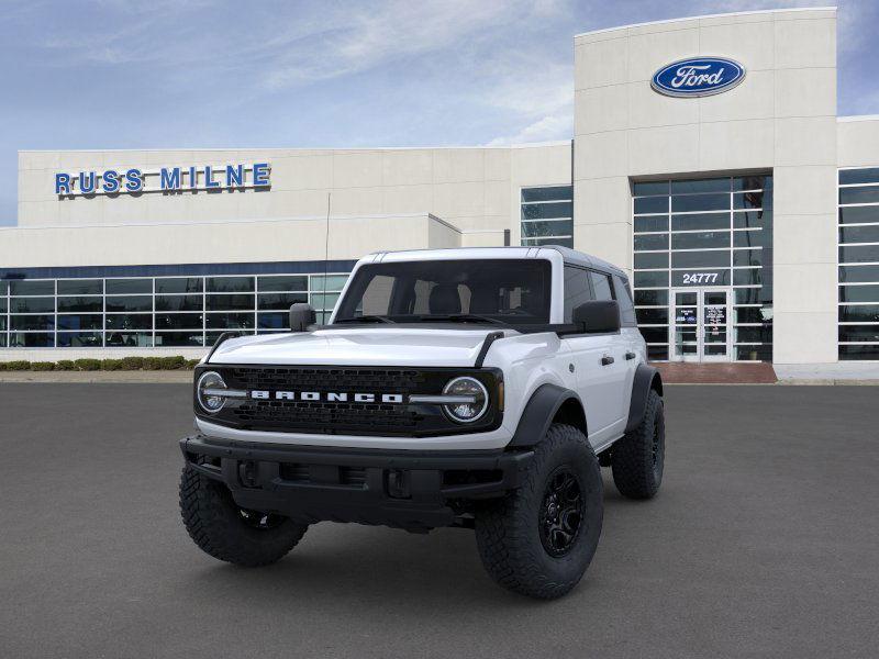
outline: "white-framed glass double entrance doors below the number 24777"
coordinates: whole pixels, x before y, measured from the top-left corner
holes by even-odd
[[[730,361],[732,289],[671,290],[671,360]]]

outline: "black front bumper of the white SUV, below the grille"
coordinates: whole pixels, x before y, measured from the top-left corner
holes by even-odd
[[[461,523],[474,500],[518,488],[532,450],[392,451],[180,440],[192,469],[223,482],[244,509],[300,522],[410,530]]]

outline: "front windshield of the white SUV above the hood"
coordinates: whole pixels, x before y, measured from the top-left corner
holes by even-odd
[[[426,260],[363,266],[334,323],[549,323],[546,259]]]

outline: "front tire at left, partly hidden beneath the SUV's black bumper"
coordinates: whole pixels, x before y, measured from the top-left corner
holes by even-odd
[[[223,484],[202,476],[191,467],[180,476],[180,514],[189,537],[204,552],[237,566],[258,567],[274,563],[292,549],[308,529],[287,517],[268,517],[265,526],[255,513],[242,511]]]

